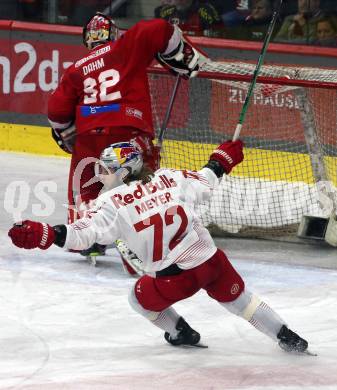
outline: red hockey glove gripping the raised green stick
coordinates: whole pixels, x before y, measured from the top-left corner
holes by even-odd
[[[228,174],[243,160],[242,141],[226,141],[219,145],[210,156],[210,160],[218,161]]]

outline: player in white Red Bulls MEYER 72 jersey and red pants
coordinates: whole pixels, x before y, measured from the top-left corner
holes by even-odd
[[[172,305],[204,289],[284,350],[305,352],[307,341],[245,288],[195,211],[210,198],[219,179],[242,160],[242,142],[228,141],[218,146],[198,172],[159,169],[153,173],[132,144],[112,144],[96,164],[96,175],[110,190],[98,198],[85,218],[54,227],[26,220],[16,223],[9,236],[16,246],[26,249],[47,249],[52,244],[85,249],[94,242],[106,245],[124,240],[145,272],[131,289],[129,302],[162,329],[172,345],[199,344],[200,334]]]

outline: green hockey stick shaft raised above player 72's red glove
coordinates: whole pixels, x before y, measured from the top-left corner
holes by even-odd
[[[260,68],[261,68],[261,66],[263,64],[264,57],[265,57],[266,52],[267,52],[267,48],[268,48],[268,45],[269,45],[269,41],[270,41],[271,35],[272,35],[273,31],[274,31],[276,20],[279,17],[279,14],[280,14],[280,11],[281,11],[281,7],[282,7],[282,3],[283,3],[283,0],[280,0],[277,9],[273,13],[273,17],[271,19],[271,22],[269,23],[268,30],[267,30],[266,35],[264,37],[264,41],[263,41],[262,49],[261,49],[261,52],[260,52],[260,55],[259,55],[259,59],[258,59],[258,62],[256,64],[256,67],[255,67],[255,70],[254,70],[253,79],[252,79],[252,81],[250,83],[250,86],[249,86],[249,89],[248,89],[248,92],[247,92],[247,96],[246,96],[245,102],[244,102],[243,107],[242,107],[241,112],[240,112],[239,122],[238,122],[238,124],[236,125],[236,128],[235,128],[235,132],[234,132],[234,135],[233,135],[233,141],[236,141],[239,138],[239,136],[240,136],[242,125],[243,125],[243,122],[245,121],[246,113],[247,113],[248,106],[249,106],[249,103],[250,103],[250,98],[251,98],[251,96],[253,94],[253,90],[255,88],[256,80],[257,80],[257,77],[259,75]]]

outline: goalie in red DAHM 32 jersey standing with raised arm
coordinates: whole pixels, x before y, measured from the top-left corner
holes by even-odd
[[[72,154],[69,222],[97,198],[102,184],[94,161],[109,144],[130,141],[147,166],[158,168],[146,72],[150,63],[158,56],[185,78],[195,76],[200,66],[198,52],[181,31],[160,19],[141,21],[120,35],[111,18],[97,13],[83,29],[83,43],[88,55],[65,71],[48,101],[53,138]],[[104,251],[96,245],[89,252],[97,249]]]

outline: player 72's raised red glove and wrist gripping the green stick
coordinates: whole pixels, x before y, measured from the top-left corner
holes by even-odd
[[[243,158],[243,142],[226,141],[213,151],[205,168],[212,170],[220,178],[224,173],[228,175]]]

